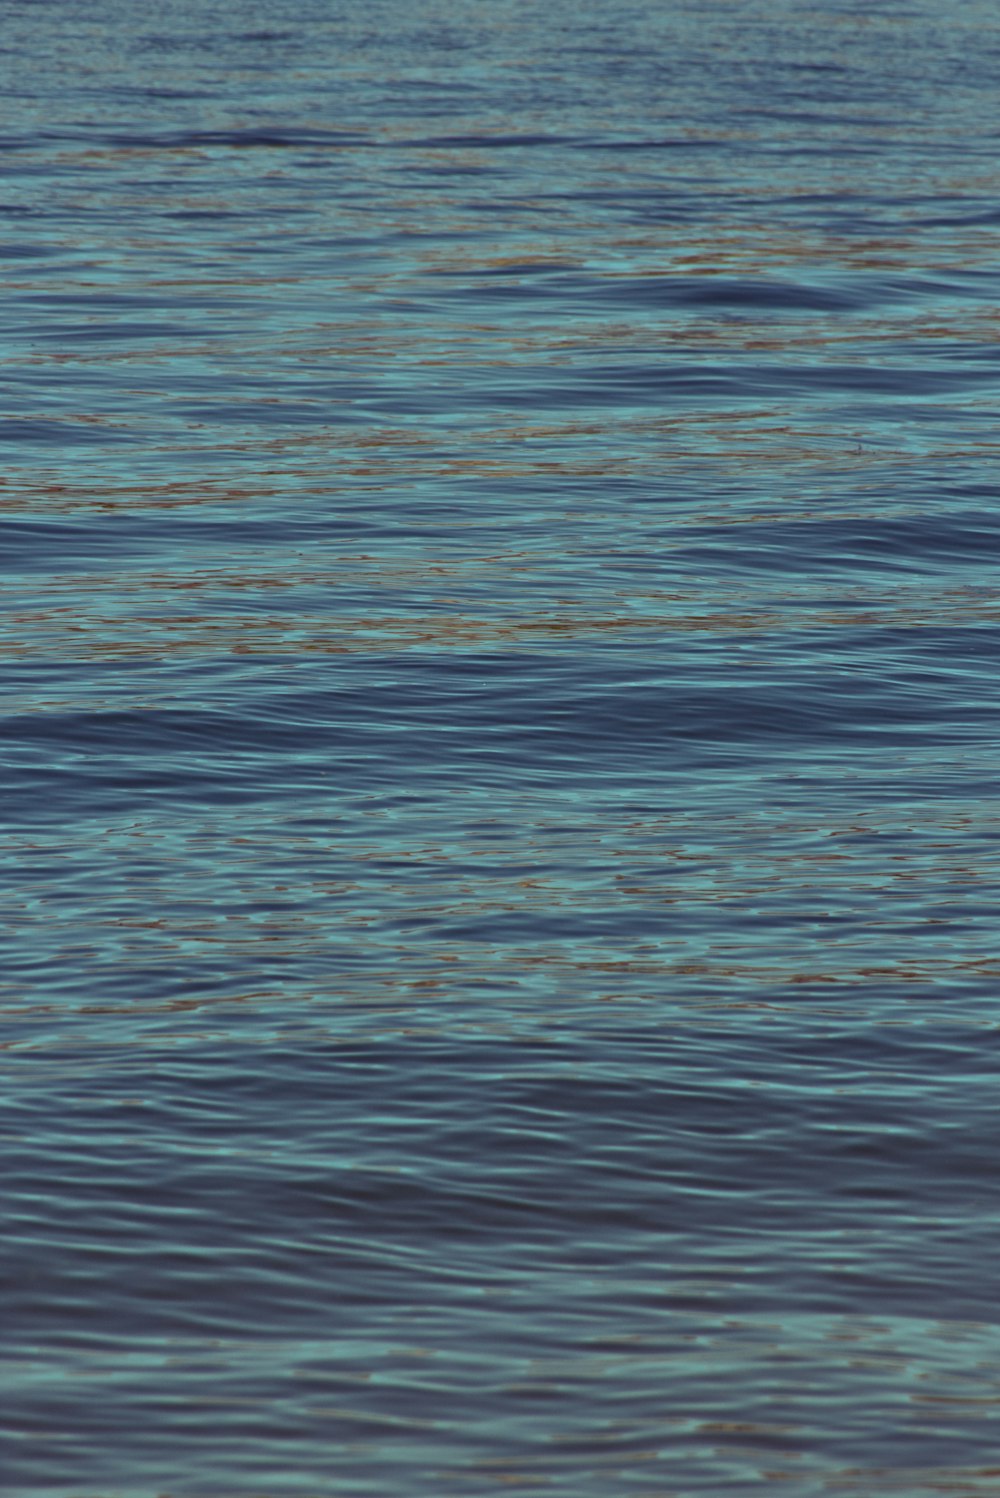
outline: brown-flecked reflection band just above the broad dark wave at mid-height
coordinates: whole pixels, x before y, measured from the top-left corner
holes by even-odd
[[[494,563],[496,565],[496,563]],[[347,556],[341,566],[355,571],[355,581],[364,575],[365,559]],[[527,569],[524,560],[512,557],[510,568]],[[473,572],[475,575],[475,572]],[[433,589],[442,581],[452,586],[469,581],[470,572],[455,563],[439,562],[409,574],[412,586],[424,583]],[[482,581],[482,575],[481,575]],[[395,590],[401,583],[392,571],[370,580],[374,596],[380,589]],[[768,638],[783,628],[814,632],[844,631],[859,626],[924,629],[928,625],[988,625],[1000,620],[1000,601],[975,590],[942,590],[928,595],[913,584],[898,590],[897,598],[861,596],[855,607],[796,608],[795,616],[781,610],[749,605],[735,599],[729,610],[698,607],[684,595],[636,592],[627,610],[597,614],[572,604],[564,608],[540,607],[537,613],[506,613],[500,604],[491,616],[460,611],[448,596],[419,598],[412,611],[386,610],[358,614],[337,611],[337,589],[344,584],[344,571],[304,572],[299,577],[275,580],[269,577],[231,577],[208,574],[201,577],[171,577],[139,574],[108,578],[99,574],[70,574],[46,583],[43,607],[10,608],[6,617],[4,650],[12,659],[45,659],[64,653],[73,659],[178,659],[184,656],[268,655],[310,658],[316,655],[365,655],[391,650],[488,652],[510,646],[540,646],[543,643],[576,641],[596,644],[602,640],[708,634],[720,637]],[[266,598],[296,589],[329,590],[332,608],[298,608],[290,613],[269,613]],[[172,604],[171,599],[193,601],[199,593],[246,595],[253,607],[234,611],[198,611]],[[85,610],[79,598],[87,595]],[[100,599],[109,607],[102,610]],[[60,604],[60,598],[66,602]],[[257,602],[260,599],[260,602]],[[692,607],[695,602],[695,607]],[[687,607],[684,607],[687,605]],[[747,607],[749,605],[749,607]],[[874,605],[874,607],[871,607]],[[751,671],[751,659],[734,659],[734,667]],[[36,710],[46,700],[36,695]]]

